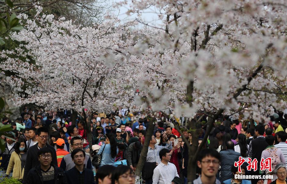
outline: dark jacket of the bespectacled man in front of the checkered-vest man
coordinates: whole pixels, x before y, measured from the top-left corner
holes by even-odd
[[[95,178],[94,178],[94,173],[91,169],[87,169],[84,168],[84,172],[82,173],[84,174],[84,180],[83,183],[89,183],[89,184],[94,184],[95,182]],[[80,182],[80,172],[78,171],[77,168],[73,167],[70,170],[65,172],[67,181],[69,184],[82,184]]]

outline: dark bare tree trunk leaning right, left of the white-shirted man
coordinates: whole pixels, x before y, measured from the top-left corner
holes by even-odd
[[[140,172],[143,169],[143,165],[144,165],[146,158],[147,158],[148,145],[150,144],[150,140],[151,140],[151,136],[153,134],[153,131],[154,131],[154,119],[151,119],[150,122],[148,123],[147,134],[145,137],[145,141],[143,143],[143,149],[140,152],[140,159],[136,165],[136,171],[135,171],[136,176],[140,176]]]

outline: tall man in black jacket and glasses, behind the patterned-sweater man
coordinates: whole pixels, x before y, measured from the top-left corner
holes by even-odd
[[[37,153],[38,150],[40,150],[43,147],[47,147],[52,150],[52,164],[57,165],[56,150],[53,146],[47,144],[49,138],[48,132],[49,132],[48,129],[45,127],[40,127],[37,129],[36,139],[38,140],[38,143],[36,143],[34,146],[31,146],[28,149],[23,181],[27,179],[28,172],[31,170],[31,168],[35,168],[36,166],[40,165]]]

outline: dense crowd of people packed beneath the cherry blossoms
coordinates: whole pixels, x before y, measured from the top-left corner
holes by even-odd
[[[39,181],[44,184],[134,184],[134,171],[143,149],[149,119],[133,119],[131,117],[138,116],[138,113],[128,109],[111,114],[96,112],[92,116],[89,122],[92,137],[89,139],[81,116],[73,124],[68,110],[35,113],[25,106],[15,122],[3,118],[3,124],[12,126],[13,130],[7,133],[16,141],[2,137],[5,150],[0,151],[0,169],[7,176],[12,173],[11,177],[27,184]],[[198,145],[203,144],[203,149],[198,154],[193,183],[286,183],[287,114],[278,112],[269,118],[269,122],[251,123],[240,119],[231,121],[223,116],[217,121],[220,124],[214,124],[206,142],[202,141],[208,127],[203,125],[198,137]],[[183,125],[184,122],[182,117],[175,123]],[[187,183],[188,152],[194,141],[191,132],[184,130],[182,133],[188,143],[183,142],[173,123],[156,123],[140,182]],[[90,150],[89,141],[93,150]],[[245,160],[240,166],[241,175],[272,175],[273,179],[236,179],[234,175],[239,173],[234,163],[239,157]],[[272,158],[272,172],[260,171],[261,158],[269,157]],[[256,171],[246,169],[248,158],[257,159]]]

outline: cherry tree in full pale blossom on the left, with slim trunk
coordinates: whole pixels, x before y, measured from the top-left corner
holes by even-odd
[[[117,18],[111,18],[93,27],[81,27],[72,20],[54,20],[53,15],[41,12],[42,7],[37,9],[34,19],[20,14],[25,28],[11,35],[23,44],[12,51],[1,51],[1,68],[18,76],[12,75],[6,82],[18,92],[25,85],[27,94],[11,100],[15,105],[34,103],[52,110],[73,109],[82,112],[88,122],[88,111],[111,111],[118,94],[129,89],[125,50],[133,45],[129,28],[134,23],[121,25]]]

